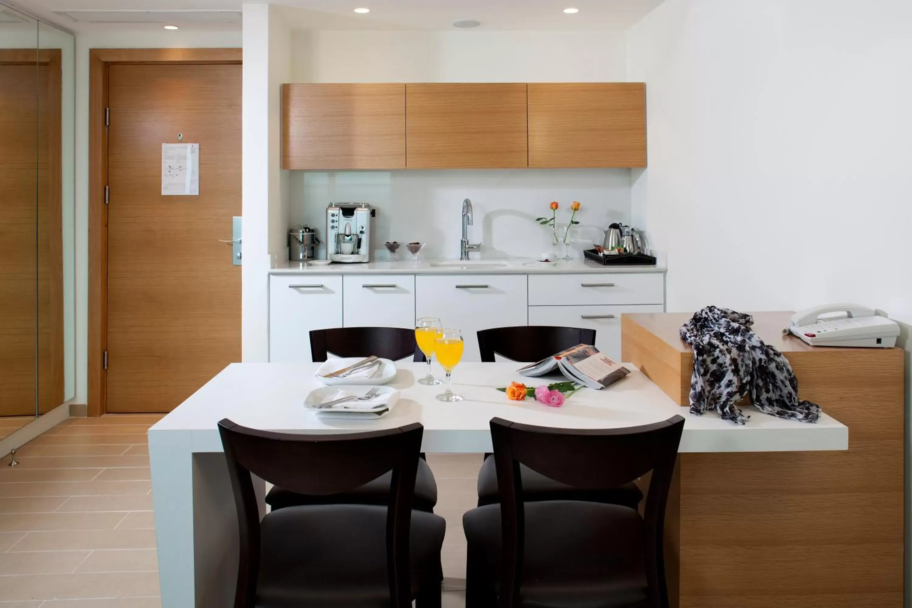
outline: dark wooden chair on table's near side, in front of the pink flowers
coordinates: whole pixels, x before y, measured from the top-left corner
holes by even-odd
[[[492,419],[501,502],[462,518],[466,605],[668,608],[662,534],[683,428],[680,416],[606,430]],[[644,515],[599,502],[523,502],[521,464],[584,488],[617,488],[651,471]]]

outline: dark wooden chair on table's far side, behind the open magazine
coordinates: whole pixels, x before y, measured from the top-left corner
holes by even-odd
[[[579,327],[553,327],[550,325],[520,325],[517,327],[494,327],[478,332],[478,347],[482,361],[493,363],[494,354],[513,361],[541,361],[546,356],[572,348],[575,345],[596,344],[596,330]],[[592,489],[570,488],[528,467],[520,467],[523,475],[524,500],[592,500],[637,508],[643,500],[643,492],[637,484],[628,483],[619,488]],[[500,500],[497,490],[497,474],[490,455],[482,463],[478,474],[478,506],[493,504]]]

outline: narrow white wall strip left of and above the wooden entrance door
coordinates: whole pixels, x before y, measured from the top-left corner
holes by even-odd
[[[76,403],[86,403],[88,398],[88,51],[238,46],[240,32],[124,29],[76,36]]]

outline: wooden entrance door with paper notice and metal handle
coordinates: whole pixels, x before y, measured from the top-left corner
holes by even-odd
[[[109,67],[107,411],[166,412],[241,357],[241,66]],[[161,144],[200,144],[199,196]]]

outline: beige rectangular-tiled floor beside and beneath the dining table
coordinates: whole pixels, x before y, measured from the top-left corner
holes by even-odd
[[[0,460],[0,608],[158,608],[146,431],[158,415],[69,418]],[[430,454],[443,571],[465,577],[462,513],[481,455]],[[450,581],[444,608],[462,608]]]

